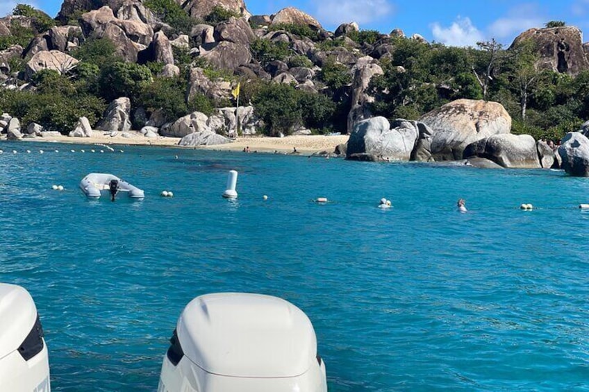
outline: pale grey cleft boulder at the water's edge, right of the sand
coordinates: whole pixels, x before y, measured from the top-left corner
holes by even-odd
[[[416,121],[399,119],[393,123],[385,117],[372,117],[354,126],[347,146],[347,159],[370,155],[378,160],[410,160],[419,137]]]

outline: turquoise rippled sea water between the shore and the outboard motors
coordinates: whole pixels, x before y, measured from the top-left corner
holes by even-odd
[[[589,389],[589,212],[577,208],[589,203],[588,178],[177,148],[0,148],[0,282],[35,299],[53,391],[155,391],[183,307],[222,291],[279,296],[306,312],[331,392]],[[235,202],[221,197],[231,169]],[[87,200],[78,183],[93,171],[144,189],[144,201]],[[383,197],[392,209],[376,207]]]

